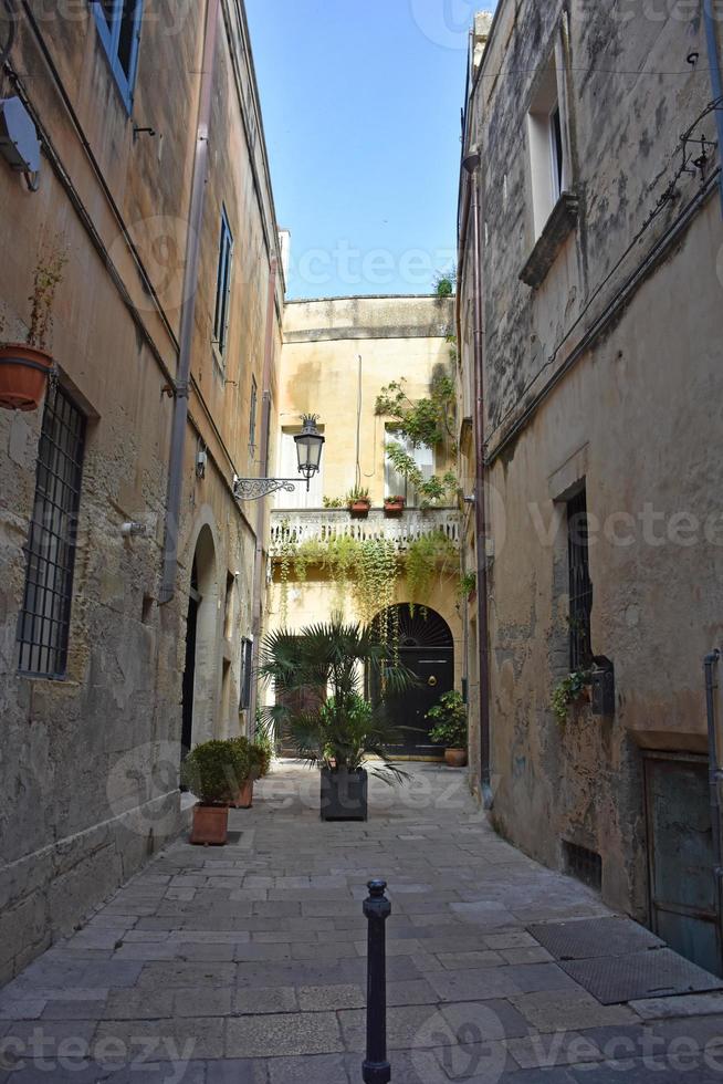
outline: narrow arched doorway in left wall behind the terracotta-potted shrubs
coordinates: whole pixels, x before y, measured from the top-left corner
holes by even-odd
[[[196,543],[188,594],[181,755],[213,737],[218,707],[219,585],[209,527]]]

